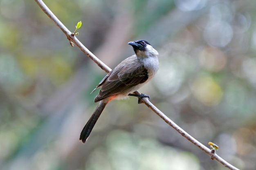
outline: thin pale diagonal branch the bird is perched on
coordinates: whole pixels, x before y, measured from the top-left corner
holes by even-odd
[[[45,3],[42,0],[35,0],[36,3],[39,5],[39,7],[49,16],[49,18],[65,33],[67,36],[67,39],[72,41],[76,46],[81,49],[90,59],[92,59],[101,69],[106,71],[107,73],[111,71],[111,69],[101,62],[92,52],[90,52],[72,33],[61,23],[60,20],[50,11],[50,9],[45,5]],[[139,92],[135,92],[135,94],[139,95]],[[171,119],[169,119],[164,113],[162,113],[156,106],[154,106],[148,98],[141,99],[141,102],[146,104],[148,108],[153,110],[159,117],[161,117],[168,125],[173,127],[177,132],[179,132],[183,137],[191,141],[195,146],[206,152],[208,155],[211,156],[211,159],[216,159],[218,162],[222,163],[225,167],[231,169],[231,170],[239,170],[238,168],[232,166],[230,163],[222,159],[220,156],[216,154],[216,152],[211,152],[209,148],[201,144],[199,141],[197,141],[195,138],[193,138],[191,135],[189,135],[186,131],[184,131],[182,128],[180,128],[177,124],[175,124]]]

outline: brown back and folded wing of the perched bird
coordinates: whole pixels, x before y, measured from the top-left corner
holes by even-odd
[[[143,64],[137,57],[129,57],[118,64],[102,82],[101,90],[95,97],[94,102],[128,91],[133,86],[146,82],[147,79],[148,72]]]

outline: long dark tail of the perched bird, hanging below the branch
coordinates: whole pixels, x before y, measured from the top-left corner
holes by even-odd
[[[94,113],[84,126],[81,135],[80,135],[80,140],[85,143],[87,138],[89,137],[90,133],[92,132],[92,128],[96,124],[96,121],[99,119],[99,116],[101,115],[103,109],[106,107],[107,103],[100,102],[97,108],[95,109]]]

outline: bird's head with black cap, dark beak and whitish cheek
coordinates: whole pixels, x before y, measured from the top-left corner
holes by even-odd
[[[158,55],[158,52],[145,40],[137,40],[128,42],[133,47],[137,57],[150,57]]]

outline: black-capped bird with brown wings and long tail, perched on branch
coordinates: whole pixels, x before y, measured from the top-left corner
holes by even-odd
[[[91,92],[100,88],[99,94],[94,98],[94,102],[99,102],[99,104],[80,135],[83,143],[88,139],[103,109],[112,99],[119,100],[126,99],[128,96],[136,96],[140,101],[141,98],[149,98],[148,95],[142,93],[140,95],[132,93],[154,77],[159,68],[157,57],[159,53],[146,40],[137,40],[128,42],[128,44],[132,46],[135,54],[119,63]]]

